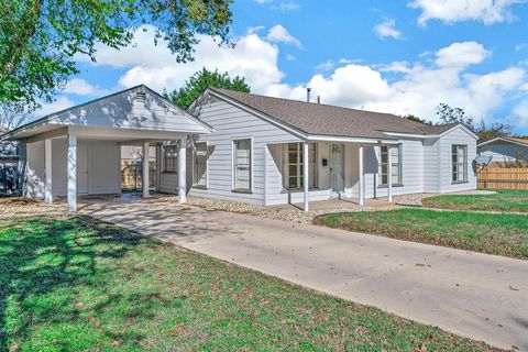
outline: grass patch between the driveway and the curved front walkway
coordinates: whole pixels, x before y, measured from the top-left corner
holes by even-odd
[[[528,216],[396,209],[336,213],[316,224],[488,254],[528,258]]]

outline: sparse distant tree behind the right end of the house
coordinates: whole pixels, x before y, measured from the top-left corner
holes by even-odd
[[[442,123],[462,123],[479,135],[479,140],[486,141],[498,136],[514,135],[515,128],[507,122],[495,121],[486,123],[484,120],[479,122],[469,116],[462,108],[452,108],[447,103],[437,107],[437,116]]]

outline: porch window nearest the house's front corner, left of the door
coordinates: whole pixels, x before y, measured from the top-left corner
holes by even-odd
[[[289,145],[297,144],[297,163],[289,162]],[[317,189],[319,185],[319,144],[317,142],[310,142],[308,145],[308,154],[310,151],[314,151],[314,162],[310,161],[310,155],[308,155],[309,162],[309,173],[308,182],[310,183],[309,189]],[[282,167],[283,167],[283,189],[286,190],[301,190],[304,185],[300,182],[304,177],[302,169],[302,157],[300,157],[302,152],[302,143],[286,143],[282,144]],[[297,175],[293,176],[297,179],[297,187],[289,187],[289,166],[297,167]]]

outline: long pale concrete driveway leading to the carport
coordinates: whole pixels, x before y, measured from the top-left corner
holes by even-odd
[[[151,200],[81,212],[330,295],[528,351],[528,261]]]

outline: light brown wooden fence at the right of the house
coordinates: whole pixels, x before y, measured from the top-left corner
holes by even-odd
[[[487,189],[528,189],[528,167],[490,166],[479,173],[477,187]]]

